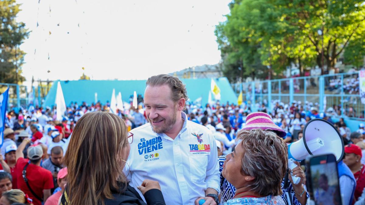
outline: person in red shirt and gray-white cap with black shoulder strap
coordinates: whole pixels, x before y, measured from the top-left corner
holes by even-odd
[[[50,171],[40,166],[43,157],[41,146],[28,147],[27,157],[29,160],[24,159],[23,150],[30,141],[29,138],[25,138],[15,152],[18,189],[28,194],[33,199],[34,205],[41,205],[42,201],[46,201],[51,196],[53,177]],[[26,173],[23,174],[23,171]]]

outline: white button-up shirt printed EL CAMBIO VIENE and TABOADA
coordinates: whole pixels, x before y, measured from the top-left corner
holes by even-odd
[[[194,204],[205,197],[205,190],[220,191],[218,151],[212,132],[203,125],[187,120],[173,140],[156,134],[150,123],[133,129],[133,143],[125,174],[137,189],[145,179],[158,181],[166,204]]]

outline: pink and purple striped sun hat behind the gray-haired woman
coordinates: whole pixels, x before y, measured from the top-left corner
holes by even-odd
[[[253,112],[247,115],[246,124],[242,129],[272,130],[281,138],[287,135],[283,129],[273,123],[270,115],[265,112]]]

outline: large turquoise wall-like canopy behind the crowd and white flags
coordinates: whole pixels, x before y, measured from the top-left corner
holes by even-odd
[[[211,78],[200,79],[181,79],[186,85],[188,97],[190,101],[195,101],[202,98],[201,104],[205,105],[208,102],[208,95],[211,89]],[[237,96],[235,95],[229,81],[226,77],[215,78],[214,81],[220,89],[220,102],[237,104]],[[53,86],[49,90],[43,107],[52,107],[55,104],[57,82],[54,81]],[[129,102],[129,97],[136,91],[137,94],[144,95],[146,88],[146,80],[77,80],[77,81],[59,81],[64,93],[66,106],[71,102],[77,102],[79,105],[82,101],[91,104],[95,101],[95,93],[97,93],[97,100],[102,104],[111,100],[112,91],[115,89],[115,95],[120,92],[122,94],[123,102]],[[214,95],[212,94],[214,100]]]

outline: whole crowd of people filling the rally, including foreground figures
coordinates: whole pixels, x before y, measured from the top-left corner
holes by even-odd
[[[297,101],[274,101],[271,110],[264,103],[260,112],[219,101],[202,107],[188,101],[185,86],[169,75],[149,78],[144,98],[138,98],[137,108],[131,99],[115,114],[110,102],[71,102],[62,119],[50,107],[8,112],[0,204],[55,205],[60,198],[62,205],[309,200],[305,167],[287,167],[287,144],[303,137],[311,119],[333,123],[335,109],[319,113],[318,103]],[[354,187],[350,193],[351,186],[341,186],[343,204],[365,203],[364,125],[354,132],[343,119],[334,125],[346,144],[346,174],[339,177]],[[285,180],[288,172],[301,178],[298,185]],[[15,201],[17,194],[22,197]]]

